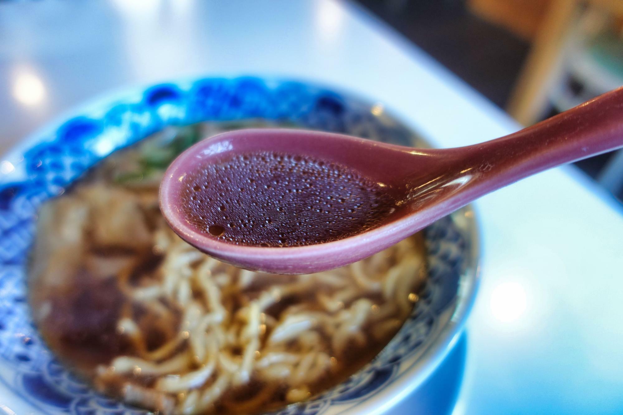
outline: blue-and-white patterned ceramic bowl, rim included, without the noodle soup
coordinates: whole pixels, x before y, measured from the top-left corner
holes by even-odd
[[[55,359],[32,322],[27,262],[39,206],[99,161],[171,125],[249,120],[426,147],[408,126],[351,93],[291,80],[206,78],[134,88],[97,100],[2,158],[0,404],[12,413],[141,414],[102,396]],[[427,274],[402,328],[361,370],[278,414],[382,413],[427,379],[459,338],[478,283],[473,211],[424,231]],[[9,412],[10,413],[10,412]]]

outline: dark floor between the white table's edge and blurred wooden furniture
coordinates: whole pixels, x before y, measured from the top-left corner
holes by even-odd
[[[462,0],[359,0],[498,107],[504,108],[530,44],[473,15]]]

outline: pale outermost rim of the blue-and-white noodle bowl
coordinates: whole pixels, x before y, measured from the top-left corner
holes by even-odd
[[[353,91],[350,88],[336,87],[335,85],[331,85],[331,83],[325,83],[315,79],[299,78],[295,75],[292,77],[275,77],[261,73],[248,74],[243,72],[239,74],[203,74],[174,79],[164,79],[155,82],[133,83],[131,85],[122,85],[121,87],[113,88],[112,90],[105,93],[97,94],[94,98],[86,100],[83,103],[71,105],[69,108],[67,108],[67,110],[64,110],[59,115],[50,118],[49,121],[44,122],[34,131],[28,133],[22,140],[9,146],[9,148],[4,151],[2,155],[0,155],[0,160],[15,160],[17,161],[17,163],[21,163],[21,161],[23,160],[23,155],[24,153],[26,153],[27,150],[37,145],[38,143],[45,141],[46,137],[49,136],[50,133],[54,133],[55,131],[57,131],[60,126],[64,125],[64,123],[69,121],[70,119],[80,115],[95,115],[99,112],[112,108],[118,103],[139,102],[140,98],[143,96],[143,93],[145,93],[146,90],[148,90],[149,88],[153,88],[158,85],[174,85],[176,87],[184,87],[184,85],[193,85],[193,83],[201,80],[234,80],[244,77],[253,77],[262,81],[277,83],[302,83],[306,86],[317,87],[322,90],[338,93],[343,97],[353,98],[357,102],[369,106],[372,106],[374,105],[374,103],[379,102],[379,100],[375,100],[373,97],[370,97],[363,92]],[[134,99],[133,97],[136,97],[136,99]],[[409,133],[417,136],[427,145],[430,145],[428,141],[429,138],[422,135],[422,133],[420,133],[420,131],[417,129],[417,126],[412,125],[412,123],[410,122],[406,122],[404,117],[402,117],[399,112],[395,111],[391,107],[391,104],[387,105],[383,102],[382,105],[384,108],[384,114],[386,116],[396,121],[400,125],[404,126],[409,131]],[[123,145],[121,148],[125,148],[126,146],[127,145]],[[112,152],[108,155],[112,154]],[[106,158],[108,155],[103,156],[102,159]],[[17,171],[15,173],[17,173],[17,176],[20,175]],[[25,174],[25,172],[22,173]],[[8,176],[8,174],[0,175],[0,185],[11,183],[11,181],[7,179]],[[72,182],[78,179],[80,178],[78,177],[72,179]],[[352,404],[348,404],[346,408],[339,408],[340,410],[338,412],[331,412],[331,414],[359,413],[359,411],[363,410],[362,406],[365,406],[365,411],[368,414],[384,413],[393,406],[396,406],[396,404],[401,402],[404,398],[407,398],[407,396],[411,394],[417,387],[421,386],[421,384],[427,378],[429,378],[430,374],[435,371],[437,366],[440,365],[440,363],[444,360],[445,356],[448,355],[450,350],[454,348],[455,344],[459,340],[460,335],[462,335],[463,333],[465,322],[470,311],[473,308],[473,304],[475,303],[475,299],[477,297],[477,291],[481,281],[480,263],[482,259],[482,244],[480,243],[482,233],[480,228],[480,221],[478,219],[479,215],[475,211],[473,204],[468,204],[467,206],[462,207],[458,211],[450,214],[450,216],[452,217],[456,217],[457,215],[465,216],[467,218],[465,226],[461,226],[460,228],[461,231],[464,232],[464,236],[466,237],[466,240],[468,242],[468,249],[466,249],[468,255],[466,256],[464,272],[460,275],[459,278],[459,287],[457,289],[457,294],[452,300],[452,303],[447,306],[447,310],[444,310],[443,312],[450,313],[449,320],[447,320],[447,322],[440,328],[439,332],[432,335],[429,344],[427,344],[426,348],[422,350],[421,355],[417,357],[414,365],[412,365],[410,368],[407,368],[407,370],[399,374],[397,378],[392,379],[390,383],[379,388],[378,391],[376,391],[372,395],[367,396],[364,399],[358,399]],[[4,391],[2,389],[4,389]],[[3,392],[5,391],[14,396],[19,396],[19,398],[21,398],[22,400],[20,404],[25,404],[26,406],[29,406],[31,408],[44,410],[42,408],[39,408],[37,404],[29,401],[29,399],[27,399],[27,397],[23,394],[19,393],[19,391],[15,391],[14,389],[12,389],[11,385],[6,384],[4,381],[0,381],[0,394],[4,394]],[[333,406],[333,404],[331,404],[331,406]]]

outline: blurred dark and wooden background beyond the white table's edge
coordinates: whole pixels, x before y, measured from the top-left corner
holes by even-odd
[[[523,125],[623,85],[623,0],[358,0]],[[623,150],[576,165],[623,201]]]

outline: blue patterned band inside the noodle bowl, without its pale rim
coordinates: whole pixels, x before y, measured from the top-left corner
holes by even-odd
[[[145,414],[93,392],[54,360],[32,324],[24,266],[37,208],[112,151],[171,124],[264,118],[408,145],[412,135],[388,124],[369,105],[301,82],[255,77],[200,79],[148,88],[136,101],[115,102],[79,115],[24,152],[26,176],[0,185],[0,380],[44,413]],[[307,403],[276,414],[316,415],[332,403],[364,401],[399,375],[401,362],[421,350],[440,313],[457,297],[467,239],[450,217],[426,229],[430,278],[411,317],[363,370]],[[6,372],[6,371],[5,371]]]

